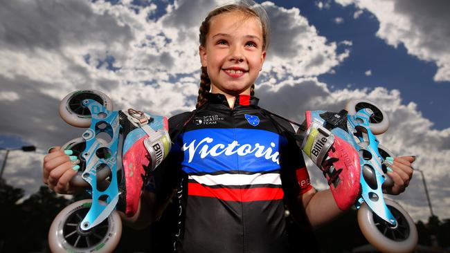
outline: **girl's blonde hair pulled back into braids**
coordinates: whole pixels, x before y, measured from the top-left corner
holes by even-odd
[[[260,20],[262,26],[262,48],[263,50],[267,50],[269,46],[269,38],[270,38],[270,27],[269,27],[269,17],[267,17],[267,12],[260,5],[253,1],[239,1],[238,3],[227,4],[226,6],[220,6],[211,10],[206,16],[205,20],[201,22],[200,26],[200,34],[199,34],[199,42],[201,46],[206,45],[206,35],[208,35],[210,28],[210,20],[218,15],[221,15],[226,12],[242,12],[244,15],[248,17],[256,17]],[[208,70],[206,67],[201,67],[201,75],[200,75],[200,88],[199,88],[199,96],[197,97],[197,104],[195,107],[199,109],[203,106],[207,99],[206,93],[209,93],[211,89],[211,81],[208,77]],[[250,95],[255,95],[255,84],[251,85]]]

